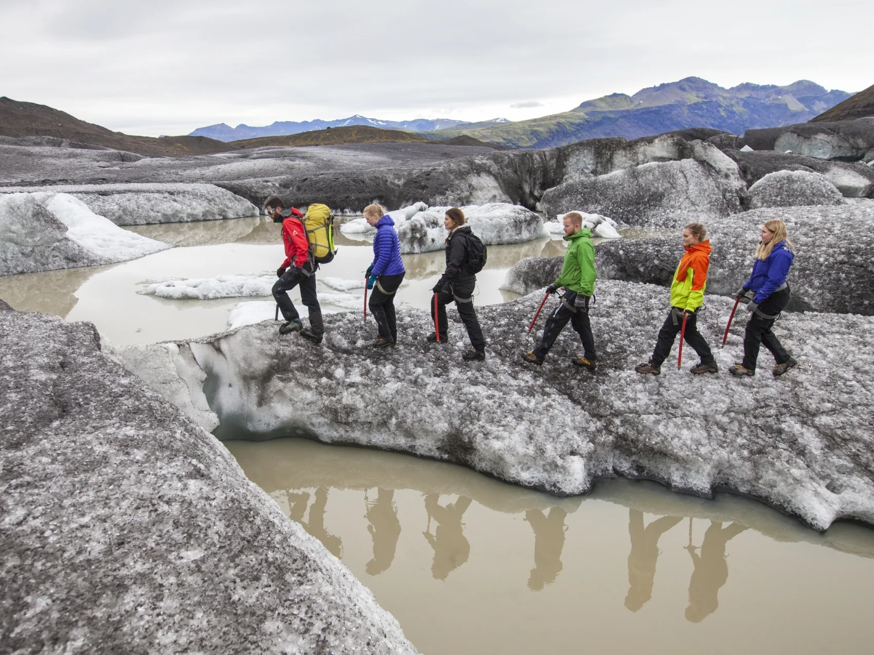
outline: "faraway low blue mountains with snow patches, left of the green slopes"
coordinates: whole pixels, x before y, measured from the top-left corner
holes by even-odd
[[[403,129],[409,132],[435,132],[441,129],[458,128],[465,126],[466,128],[483,128],[496,123],[510,122],[505,118],[496,118],[492,121],[482,121],[481,123],[470,123],[468,121],[453,121],[448,118],[427,119],[418,118],[413,121],[382,121],[378,118],[367,118],[360,114],[355,114],[349,118],[341,118],[336,121],[275,121],[263,128],[255,128],[245,123],[240,123],[236,128],[232,128],[225,123],[218,125],[210,125],[206,128],[197,128],[189,136],[206,136],[217,141],[240,141],[242,139],[257,139],[260,136],[282,136],[285,134],[301,134],[302,132],[312,132],[317,129],[326,128],[350,128],[352,126],[369,126],[371,128],[380,129]],[[449,137],[447,137],[449,138]]]

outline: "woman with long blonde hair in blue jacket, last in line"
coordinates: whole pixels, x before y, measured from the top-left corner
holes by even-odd
[[[798,363],[771,331],[780,312],[789,302],[786,276],[795,257],[792,242],[789,241],[786,224],[780,220],[762,225],[760,236],[762,240],[756,249],[753,273],[738,290],[739,298],[752,292],[753,300],[746,306],[751,316],[744,335],[744,361],[728,369],[735,376],[756,374],[756,360],[763,343],[777,362],[773,367],[774,376],[783,375]]]

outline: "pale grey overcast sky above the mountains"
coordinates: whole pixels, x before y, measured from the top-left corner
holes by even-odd
[[[510,120],[690,75],[874,84],[874,0],[0,0],[0,95],[129,134]]]

